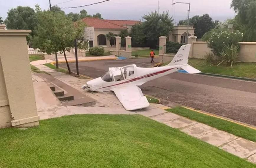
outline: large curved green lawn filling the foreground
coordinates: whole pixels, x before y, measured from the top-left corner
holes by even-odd
[[[0,130],[0,167],[255,167],[140,115],[73,115]]]

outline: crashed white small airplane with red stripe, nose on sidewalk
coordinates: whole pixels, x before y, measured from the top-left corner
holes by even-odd
[[[163,67],[142,68],[135,64],[111,67],[102,77],[88,81],[82,89],[96,92],[114,91],[127,111],[145,108],[149,106],[149,103],[138,86],[180,69],[190,74],[200,72],[188,65],[190,47],[191,44],[181,46],[170,64]]]

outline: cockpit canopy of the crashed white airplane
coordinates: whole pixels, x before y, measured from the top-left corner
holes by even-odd
[[[109,68],[109,71],[101,77],[101,79],[105,82],[118,82],[134,78],[135,67],[137,67],[135,64],[124,67],[111,67]]]

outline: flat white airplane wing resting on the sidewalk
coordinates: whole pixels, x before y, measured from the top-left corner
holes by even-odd
[[[111,89],[127,111],[149,106],[146,96],[143,96],[138,86],[124,86]]]

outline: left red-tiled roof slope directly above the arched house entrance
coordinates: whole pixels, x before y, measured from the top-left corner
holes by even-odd
[[[126,27],[99,18],[83,18],[82,21],[95,29],[127,29]]]

